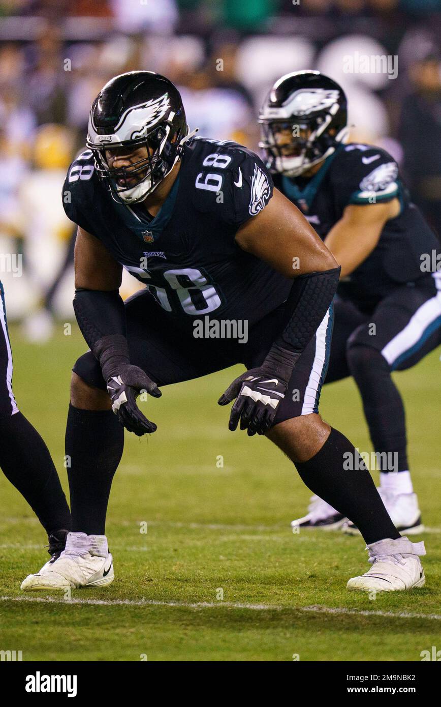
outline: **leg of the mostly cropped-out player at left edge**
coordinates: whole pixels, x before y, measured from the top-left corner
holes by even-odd
[[[0,469],[45,528],[49,565],[64,550],[71,513],[45,442],[18,409],[12,372],[4,288],[0,282]]]

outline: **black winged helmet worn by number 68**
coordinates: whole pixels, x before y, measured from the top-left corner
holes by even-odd
[[[184,106],[172,82],[154,71],[129,71],[112,78],[93,101],[87,146],[112,197],[136,204],[158,187],[180,159],[187,135]],[[146,146],[145,158],[129,168],[110,169],[107,149],[139,146]]]

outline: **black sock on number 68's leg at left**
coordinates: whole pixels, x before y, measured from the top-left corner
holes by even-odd
[[[73,532],[104,535],[110,486],[123,448],[124,428],[111,410],[69,405],[66,457]]]

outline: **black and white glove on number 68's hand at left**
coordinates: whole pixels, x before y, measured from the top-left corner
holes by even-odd
[[[157,429],[155,423],[142,414],[136,405],[136,398],[143,391],[153,397],[160,397],[163,394],[141,368],[132,366],[130,363],[120,366],[117,375],[112,375],[107,380],[107,390],[112,400],[114,414],[129,432],[134,432],[141,437]]]

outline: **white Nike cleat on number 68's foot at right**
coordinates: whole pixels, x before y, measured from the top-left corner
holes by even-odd
[[[425,576],[420,556],[425,555],[423,542],[411,542],[406,537],[386,538],[367,545],[370,570],[353,577],[346,588],[365,592],[397,592],[423,587]]]

